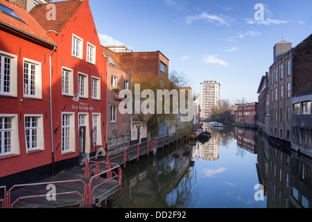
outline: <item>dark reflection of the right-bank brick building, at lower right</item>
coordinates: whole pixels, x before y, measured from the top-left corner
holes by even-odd
[[[258,142],[257,170],[267,195],[267,207],[311,208],[311,158],[284,153],[281,148],[270,146],[263,135]]]

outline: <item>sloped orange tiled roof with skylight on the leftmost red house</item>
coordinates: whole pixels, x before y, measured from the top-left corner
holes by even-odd
[[[17,18],[0,10],[0,22],[2,25],[55,45],[55,42],[47,35],[44,28],[42,28],[42,26],[40,26],[40,24],[26,10],[24,10],[24,8],[7,0],[0,0],[0,3],[10,10],[13,10],[19,17]]]

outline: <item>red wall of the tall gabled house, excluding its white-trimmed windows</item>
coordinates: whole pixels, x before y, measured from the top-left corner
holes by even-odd
[[[73,109],[73,106],[80,105],[80,103],[87,103],[89,107],[94,108],[94,110],[89,111],[90,130],[92,129],[92,113],[101,113],[102,144],[105,147],[107,58],[103,56],[91,10],[85,4],[88,4],[87,1],[83,2],[76,15],[73,16],[59,35],[51,33],[51,37],[58,45],[55,56],[53,56],[52,79],[55,162],[79,155],[78,112],[87,112],[86,110]],[[83,39],[83,60],[71,56],[73,34]],[[87,42],[96,46],[96,65],[87,62]],[[62,95],[62,67],[73,69],[73,94],[78,94],[78,71],[88,75],[89,99],[80,98],[76,102],[73,101],[72,96]],[[92,76],[101,78],[101,101],[90,98],[92,95]],[[62,112],[75,112],[76,152],[67,155],[62,155]],[[96,148],[92,146],[91,151],[96,152]]]

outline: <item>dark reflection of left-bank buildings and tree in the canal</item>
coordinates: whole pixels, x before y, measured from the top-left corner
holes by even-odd
[[[177,156],[173,155],[175,148],[168,149],[157,152],[154,158],[135,162],[135,167],[128,167],[123,172],[123,193],[115,194],[108,206],[163,208],[187,204],[185,201],[193,196],[189,178],[191,152],[180,148]]]

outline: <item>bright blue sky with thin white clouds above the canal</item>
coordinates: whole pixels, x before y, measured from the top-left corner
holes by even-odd
[[[312,33],[311,0],[89,0],[103,45],[161,51],[196,93],[216,80],[221,99],[257,101],[261,76],[280,40],[296,46]],[[261,3],[263,20],[254,19]]]

